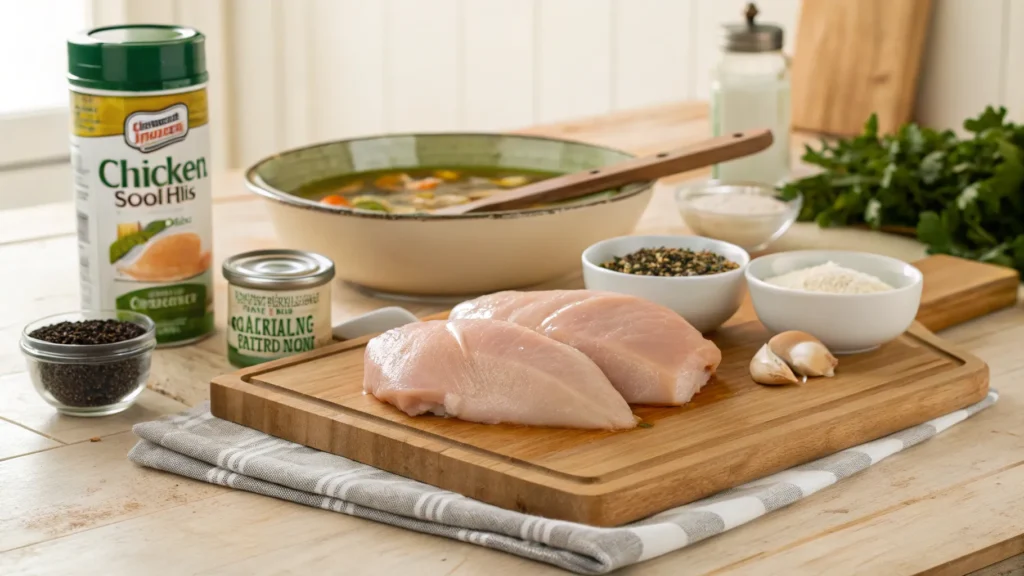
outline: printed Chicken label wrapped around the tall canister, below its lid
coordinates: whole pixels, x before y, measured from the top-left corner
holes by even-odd
[[[210,135],[205,88],[72,91],[82,306],[127,310],[157,342],[213,331]]]

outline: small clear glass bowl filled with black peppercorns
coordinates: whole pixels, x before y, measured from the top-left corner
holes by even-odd
[[[37,320],[22,333],[36,392],[62,414],[126,410],[145,387],[156,325],[127,311],[74,312]]]

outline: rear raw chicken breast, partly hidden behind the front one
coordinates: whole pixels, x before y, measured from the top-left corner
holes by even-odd
[[[686,404],[722,352],[675,312],[591,290],[498,292],[462,302],[451,318],[507,320],[584,353],[630,404]]]

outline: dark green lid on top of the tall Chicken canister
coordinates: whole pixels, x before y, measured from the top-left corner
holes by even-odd
[[[155,24],[96,28],[68,39],[68,80],[98,90],[172,90],[203,84],[206,37]]]

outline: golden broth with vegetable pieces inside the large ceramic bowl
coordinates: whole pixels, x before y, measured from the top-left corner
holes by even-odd
[[[500,192],[561,175],[560,172],[485,167],[376,170],[337,176],[301,188],[297,196],[321,204],[389,214],[429,214],[438,208],[466,204]],[[538,204],[544,208],[593,202],[614,196],[603,191],[571,200]]]

